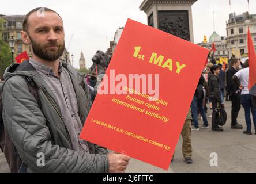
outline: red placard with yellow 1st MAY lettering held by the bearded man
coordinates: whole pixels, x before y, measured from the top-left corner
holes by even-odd
[[[81,139],[167,170],[208,53],[127,20]]]

